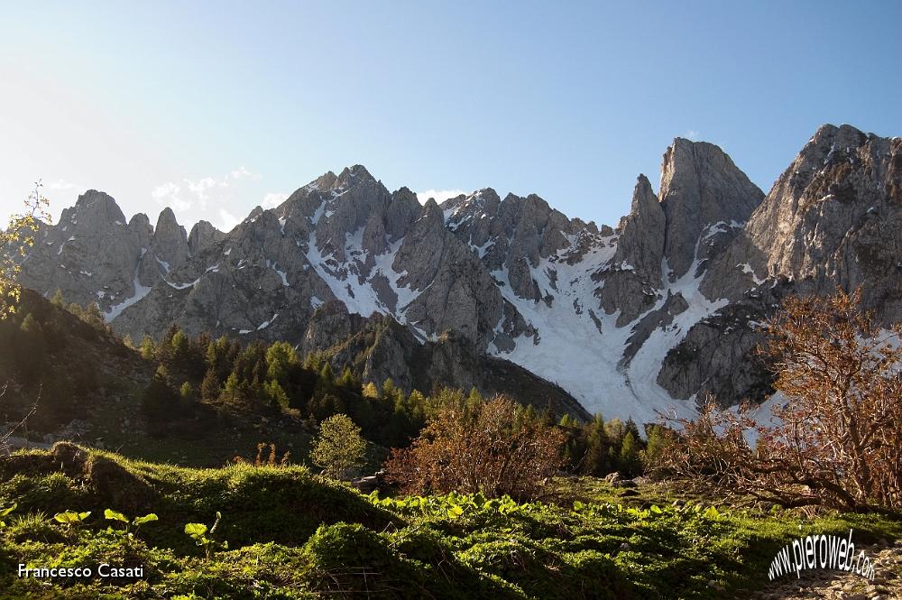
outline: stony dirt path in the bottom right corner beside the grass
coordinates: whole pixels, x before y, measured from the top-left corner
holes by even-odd
[[[876,558],[872,581],[854,573],[817,569],[803,572],[801,578],[784,576],[769,581],[750,597],[753,600],[902,600],[902,540],[863,549],[867,556]]]

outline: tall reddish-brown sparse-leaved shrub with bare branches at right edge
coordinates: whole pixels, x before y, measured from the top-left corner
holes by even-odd
[[[762,349],[786,396],[773,423],[756,426],[749,406],[710,402],[697,420],[679,421],[664,463],[784,506],[902,509],[902,328],[879,328],[860,303],[860,290],[786,300]]]

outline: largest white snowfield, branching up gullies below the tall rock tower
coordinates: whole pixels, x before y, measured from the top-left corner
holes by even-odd
[[[674,400],[658,385],[657,378],[667,352],[685,337],[686,331],[727,303],[704,298],[698,289],[701,279],[693,276],[697,261],[689,274],[668,286],[673,293],[683,294],[690,309],[677,315],[667,329],[656,329],[630,364],[621,365],[632,326],[638,319],[618,328],[620,311],[605,314],[597,308],[595,292],[600,286],[592,279],[594,272],[609,268],[616,245],[595,245],[575,264],[564,260],[568,250],[542,259],[536,267],[530,266],[541,295],[550,297],[550,306],[544,300],[518,297],[505,270],[492,272],[492,278],[502,284],[499,290],[505,300],[538,330],[538,343],[535,338],[522,335],[514,340],[516,346],[511,352],[490,345],[490,353],[557,383],[573,394],[587,411],[601,412],[606,418],[631,416],[639,422],[649,422],[657,420],[659,413],[694,416],[695,402]],[[554,282],[551,273],[557,275]],[[649,310],[663,306],[666,296],[665,291]],[[573,354],[574,347],[580,349],[578,356]]]

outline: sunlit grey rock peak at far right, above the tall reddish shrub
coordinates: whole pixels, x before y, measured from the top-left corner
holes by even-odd
[[[762,365],[751,350],[764,340],[753,324],[787,294],[861,286],[865,308],[897,322],[900,231],[902,140],[824,125],[711,261],[701,290],[730,304],[667,355],[659,383],[684,397],[714,392],[724,403],[754,396]]]

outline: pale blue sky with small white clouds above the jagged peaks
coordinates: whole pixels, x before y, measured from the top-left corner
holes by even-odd
[[[615,225],[676,136],[767,191],[824,123],[902,135],[902,3],[5,3],[0,215],[41,178],[230,226],[322,172]]]

